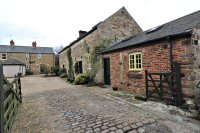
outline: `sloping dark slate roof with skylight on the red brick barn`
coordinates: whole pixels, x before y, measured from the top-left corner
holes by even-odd
[[[200,10],[114,43],[102,53],[153,42],[168,36],[191,34],[192,28],[198,24],[200,24]]]

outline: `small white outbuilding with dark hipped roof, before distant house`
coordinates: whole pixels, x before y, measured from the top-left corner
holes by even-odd
[[[3,74],[5,77],[24,76],[26,74],[26,65],[16,59],[3,62]]]

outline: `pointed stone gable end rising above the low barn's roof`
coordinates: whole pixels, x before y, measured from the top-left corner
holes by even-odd
[[[101,40],[111,39],[116,42],[142,32],[124,7],[99,24],[98,29]]]

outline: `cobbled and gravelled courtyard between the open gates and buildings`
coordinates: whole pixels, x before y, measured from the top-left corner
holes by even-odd
[[[23,103],[12,133],[199,133],[199,121],[117,100],[108,88],[58,77],[22,78]]]

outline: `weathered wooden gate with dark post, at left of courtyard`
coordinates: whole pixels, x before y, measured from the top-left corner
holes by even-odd
[[[0,133],[9,133],[19,104],[22,103],[21,82],[16,77],[9,82],[0,64]]]

